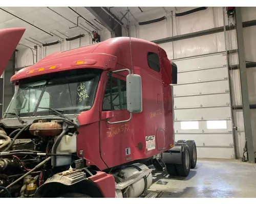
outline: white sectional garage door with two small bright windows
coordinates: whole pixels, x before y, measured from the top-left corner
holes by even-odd
[[[175,141],[195,140],[198,158],[234,159],[225,53],[174,60]]]

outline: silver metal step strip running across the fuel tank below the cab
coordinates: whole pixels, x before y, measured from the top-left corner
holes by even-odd
[[[143,169],[138,173],[133,174],[132,176],[128,177],[127,179],[123,180],[122,182],[116,184],[116,189],[124,189],[127,186],[132,185],[133,183],[139,181],[143,176],[151,173],[152,169]]]

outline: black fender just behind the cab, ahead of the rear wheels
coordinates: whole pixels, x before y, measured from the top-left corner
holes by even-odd
[[[173,148],[164,151],[162,154],[162,161],[165,164],[182,164],[182,151],[186,144],[178,144]]]

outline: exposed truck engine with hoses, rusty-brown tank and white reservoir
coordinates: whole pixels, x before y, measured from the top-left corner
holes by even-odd
[[[74,125],[51,120],[0,128],[0,197],[32,197],[49,177],[75,165],[77,134]]]

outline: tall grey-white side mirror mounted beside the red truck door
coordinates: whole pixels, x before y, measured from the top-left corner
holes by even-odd
[[[142,112],[142,85],[140,75],[128,74],[126,76],[126,100],[127,111],[130,113]]]

